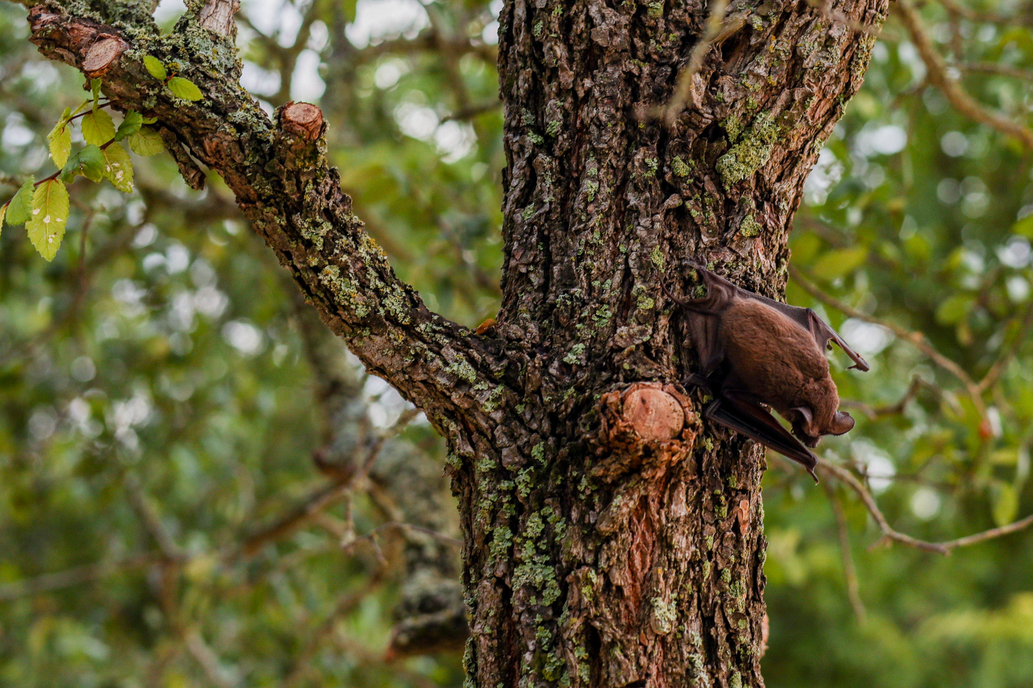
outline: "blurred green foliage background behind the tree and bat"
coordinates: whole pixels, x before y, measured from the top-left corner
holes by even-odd
[[[245,86],[321,105],[371,234],[471,327],[499,298],[500,4],[239,17]],[[922,9],[946,76],[1027,128],[1031,15]],[[83,99],[27,35],[0,4],[0,202],[50,173],[46,132]],[[821,152],[788,298],[873,364],[834,366],[858,423],[824,458],[935,540],[1033,511],[1033,151],[952,107],[916,42],[890,18]],[[132,195],[71,188],[53,263],[0,234],[0,684],[462,685],[440,439],[313,320],[218,178],[134,163]],[[1033,529],[886,547],[854,491],[769,462],[768,685],[1033,685]]]

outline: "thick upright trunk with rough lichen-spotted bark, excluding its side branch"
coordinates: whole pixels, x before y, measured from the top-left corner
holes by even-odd
[[[886,2],[838,10],[879,26]],[[502,11],[497,329],[530,360],[505,437],[456,471],[477,686],[763,685],[763,454],[698,423],[675,436],[657,419],[680,404],[627,390],[691,369],[658,285],[683,284],[684,259],[783,293],[804,179],[875,39],[803,2],[735,2],[665,126],[707,18],[699,2]]]

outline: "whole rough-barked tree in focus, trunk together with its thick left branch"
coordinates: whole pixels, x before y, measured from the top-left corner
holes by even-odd
[[[701,0],[509,0],[503,303],[479,335],[396,279],[326,163],[318,108],[270,122],[241,89],[224,14],[160,36],[134,3],[68,7],[30,10],[31,40],[77,68],[124,41],[96,62],[113,104],[157,118],[192,186],[200,164],[221,174],[323,322],[447,437],[470,685],[763,685],[763,459],[670,386],[694,353],[659,280],[694,258],[781,293],[804,179],[874,41],[828,18],[878,27],[886,0],[731,2],[669,127],[650,113]],[[145,55],[205,97],[177,99]]]

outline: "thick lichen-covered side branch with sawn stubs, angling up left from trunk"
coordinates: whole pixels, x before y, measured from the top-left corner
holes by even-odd
[[[186,51],[180,47],[184,36],[197,30],[196,18],[180,23],[183,35],[159,36],[152,24],[138,27],[132,40],[56,4],[33,7],[29,22],[30,39],[44,56],[77,68],[98,40],[126,43],[106,67],[104,95],[117,109],[157,118],[166,143],[181,149],[177,161],[188,183],[198,184],[199,172],[189,161],[222,175],[307,300],[367,368],[427,411],[446,434],[452,419],[482,408],[505,366],[501,352],[432,314],[397,279],[325,159],[326,124],[319,108],[288,103],[270,122],[238,83],[240,62],[231,42],[207,43],[204,51],[189,41]],[[201,100],[183,101],[148,74],[133,42],[146,33],[151,34],[147,53],[177,63],[179,73],[198,86]],[[494,426],[483,412],[472,416],[475,426]]]

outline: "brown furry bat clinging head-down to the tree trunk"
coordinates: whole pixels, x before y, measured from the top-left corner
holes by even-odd
[[[821,435],[853,427],[850,415],[838,409],[839,394],[821,352],[832,349],[833,340],[853,360],[851,368],[867,371],[868,362],[810,308],[779,303],[690,265],[707,296],[680,299],[660,286],[688,312],[700,371],[686,384],[706,387],[715,397],[703,417],[802,463],[817,482],[818,458],[808,447],[816,447]],[[789,421],[796,436],[764,405]]]

